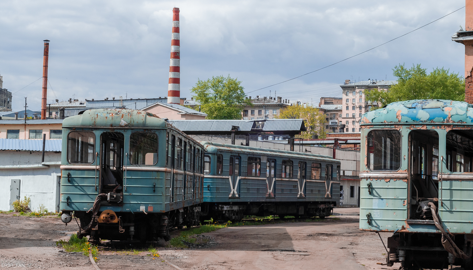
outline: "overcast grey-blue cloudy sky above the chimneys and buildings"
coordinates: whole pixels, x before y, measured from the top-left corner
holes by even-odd
[[[43,40],[54,99],[167,96],[172,9],[180,8],[181,97],[197,79],[228,74],[245,92],[368,50],[463,7],[464,0],[0,1],[0,75],[13,110],[41,109]],[[287,83],[248,93],[318,104],[345,79],[393,80],[422,64],[464,75],[464,8],[407,36]],[[26,85],[35,82],[23,90]],[[19,91],[19,92],[17,92]]]

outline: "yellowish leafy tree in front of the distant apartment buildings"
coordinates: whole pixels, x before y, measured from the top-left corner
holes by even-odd
[[[280,119],[304,119],[307,131],[297,135],[298,138],[311,139],[312,135],[318,135],[319,138],[325,138],[325,115],[308,104],[299,105],[298,103],[280,110],[278,116]]]

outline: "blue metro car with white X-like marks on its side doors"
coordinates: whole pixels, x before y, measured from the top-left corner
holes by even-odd
[[[324,218],[340,202],[340,161],[275,149],[201,142],[201,219],[244,215]]]

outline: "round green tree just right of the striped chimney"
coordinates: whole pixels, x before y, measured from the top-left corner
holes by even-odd
[[[193,98],[201,103],[201,110],[208,114],[207,119],[241,119],[241,110],[251,105],[245,98],[244,87],[236,78],[212,76],[206,81],[197,81],[191,89]]]

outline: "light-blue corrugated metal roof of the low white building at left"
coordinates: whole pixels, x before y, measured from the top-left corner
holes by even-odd
[[[0,139],[0,150],[43,151],[43,140]],[[61,152],[62,140],[46,140],[44,151]]]

